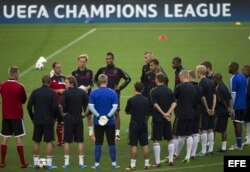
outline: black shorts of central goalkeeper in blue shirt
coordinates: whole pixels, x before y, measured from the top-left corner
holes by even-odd
[[[104,133],[106,133],[106,138],[108,145],[115,145],[115,125],[95,125],[95,144],[102,145],[104,140]]]

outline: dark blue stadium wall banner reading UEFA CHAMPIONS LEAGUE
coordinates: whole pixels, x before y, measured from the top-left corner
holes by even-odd
[[[249,0],[1,0],[0,24],[250,21]]]

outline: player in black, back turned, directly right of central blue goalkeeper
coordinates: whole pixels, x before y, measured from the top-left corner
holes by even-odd
[[[127,101],[125,111],[131,115],[129,124],[129,144],[131,146],[131,162],[126,170],[136,170],[136,157],[138,141],[143,146],[144,153],[144,169],[150,168],[149,165],[149,149],[148,149],[148,128],[146,116],[149,114],[148,99],[141,94],[143,84],[136,82],[134,84],[135,96]]]

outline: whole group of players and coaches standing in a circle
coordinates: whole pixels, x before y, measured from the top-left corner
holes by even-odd
[[[196,66],[196,71],[187,71],[182,67],[181,59],[175,57],[172,61],[172,67],[176,70],[175,88],[174,91],[171,91],[168,87],[168,77],[159,65],[159,61],[153,57],[153,53],[145,52],[144,60],[146,64],[142,68],[141,81],[134,84],[135,96],[128,99],[125,108],[125,112],[131,114],[129,124],[131,163],[126,168],[127,170],[136,169],[138,142],[143,146],[145,169],[161,166],[160,141],[162,140],[168,141],[169,155],[167,162],[169,166],[173,165],[174,158],[179,157],[185,140],[187,153],[183,162],[189,162],[196,155],[213,154],[214,131],[222,133],[222,148],[220,151],[225,152],[227,149],[226,129],[229,115],[234,121],[237,143],[233,149],[242,150],[241,125],[243,121],[248,122],[247,134],[250,138],[249,66],[244,66],[243,74],[245,76],[243,76],[238,73],[239,65],[236,62],[229,65],[229,73],[233,75],[230,79],[230,94],[222,81],[222,75],[220,73],[214,74],[211,71],[212,65],[210,62],[207,61]],[[55,168],[52,165],[55,118],[57,118],[58,145],[64,145],[65,162],[63,168],[69,168],[69,145],[73,141],[78,143],[79,168],[86,167],[83,151],[83,117],[87,117],[89,137],[95,141],[95,164],[92,168],[100,168],[104,133],[107,136],[112,168],[120,167],[116,164],[115,148],[115,139],[120,139],[119,99],[120,91],[130,83],[131,78],[126,72],[114,65],[114,55],[111,52],[106,54],[107,66],[100,68],[95,76],[93,76],[92,70],[86,68],[87,61],[88,56],[86,54],[80,55],[78,57],[78,69],[73,71],[72,76],[69,77],[61,75],[61,64],[54,62],[52,64],[53,75],[43,76],[43,86],[32,92],[27,108],[34,124],[34,167],[38,165],[39,146],[43,137],[43,140],[47,143],[47,167]],[[195,82],[195,73],[200,78],[199,83]],[[16,82],[17,79],[18,69],[11,67],[9,69],[9,80],[1,83],[0,87],[3,100],[1,135],[4,138],[1,144],[0,167],[5,167],[8,137],[11,135],[17,138],[21,167],[27,167],[23,155],[22,136],[25,134],[25,130],[21,108],[27,97],[23,86]],[[124,79],[124,82],[119,85],[121,79]],[[91,91],[94,86],[93,81],[97,83],[99,88]],[[19,91],[13,93],[14,90]],[[13,112],[16,105],[19,110]],[[175,118],[172,126],[171,116],[173,111]],[[93,114],[93,121],[91,114]],[[104,126],[98,123],[101,116],[108,117],[109,122]],[[152,116],[152,140],[155,157],[155,162],[152,165],[149,164],[148,149],[149,116]],[[199,135],[202,150],[199,154],[196,154]],[[207,142],[209,143],[208,150]],[[248,139],[248,144],[250,144],[250,139]]]

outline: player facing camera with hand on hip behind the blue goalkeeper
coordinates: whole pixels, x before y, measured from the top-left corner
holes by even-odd
[[[95,75],[95,82],[98,82],[98,76],[100,74],[105,74],[108,76],[108,87],[115,90],[117,96],[118,96],[118,108],[117,111],[115,113],[115,136],[116,136],[116,140],[120,140],[120,93],[121,90],[123,90],[131,81],[130,76],[124,72],[121,68],[116,67],[114,65],[114,54],[111,52],[108,52],[106,54],[106,67],[102,67],[100,68],[96,75]],[[121,79],[124,79],[125,82],[122,83],[121,85],[119,85],[119,82]]]

